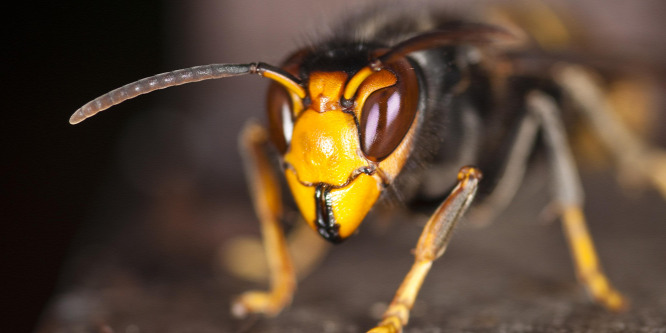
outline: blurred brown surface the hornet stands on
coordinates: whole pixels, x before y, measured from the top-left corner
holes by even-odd
[[[456,233],[426,279],[406,332],[666,331],[666,203],[654,192],[626,200],[610,177],[588,177],[587,212],[598,250],[632,300],[628,312],[612,314],[590,304],[575,283],[560,225],[540,225],[527,213],[534,201],[525,199],[539,188],[523,189],[516,213],[498,223]],[[186,203],[170,212],[188,209]],[[277,318],[239,321],[229,315],[230,299],[263,286],[220,273],[212,264],[211,235],[224,239],[233,221],[253,229],[254,218],[246,205],[219,209],[231,221],[226,226],[186,219],[198,227],[169,235],[169,223],[158,223],[120,233],[106,254],[82,261],[88,264],[78,267],[85,270],[70,275],[75,283],[55,299],[39,332],[363,332],[410,267],[419,234],[407,223],[388,232],[365,226],[333,249]],[[167,220],[177,221],[161,221]]]

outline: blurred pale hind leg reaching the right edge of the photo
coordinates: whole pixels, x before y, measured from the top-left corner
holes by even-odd
[[[613,156],[621,178],[651,182],[666,199],[666,153],[642,140],[614,117],[613,105],[588,71],[564,66],[556,70],[555,78]]]

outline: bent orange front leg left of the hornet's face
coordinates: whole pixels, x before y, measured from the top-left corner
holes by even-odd
[[[291,302],[296,289],[296,276],[280,226],[282,199],[265,151],[268,135],[255,123],[241,134],[241,151],[250,185],[254,208],[261,223],[264,249],[270,274],[270,290],[248,291],[232,306],[232,313],[243,317],[249,313],[277,315]]]

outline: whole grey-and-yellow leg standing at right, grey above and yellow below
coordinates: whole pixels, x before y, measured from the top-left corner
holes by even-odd
[[[578,279],[597,303],[609,310],[622,310],[627,302],[603,273],[585,223],[582,212],[583,191],[564,125],[557,114],[557,105],[550,96],[532,92],[527,96],[527,106],[540,118],[542,124],[552,168],[555,197],[562,208],[564,231]]]

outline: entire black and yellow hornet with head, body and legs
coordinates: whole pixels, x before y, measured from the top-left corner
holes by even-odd
[[[372,11],[279,67],[213,64],[156,75],[85,104],[70,122],[176,85],[247,74],[273,81],[267,126],[252,123],[241,136],[271,288],[241,295],[232,308],[238,316],[275,315],[295,290],[270,146],[303,219],[331,242],[353,235],[376,203],[395,193],[408,208],[430,207],[414,265],[371,332],[402,331],[461,217],[468,208],[477,221],[502,211],[535,152],[547,156],[580,282],[595,302],[621,310],[627,301],[604,275],[586,228],[565,124],[586,120],[618,165],[664,196],[666,158],[616,120],[604,88],[616,77],[599,79],[593,69],[550,52],[567,40],[557,18],[541,12],[534,26],[501,14]]]

